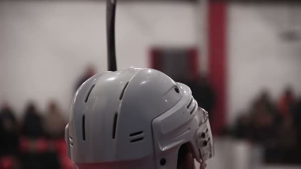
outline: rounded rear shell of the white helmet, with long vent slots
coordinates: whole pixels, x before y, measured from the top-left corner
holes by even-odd
[[[176,105],[182,90],[153,69],[100,73],[75,93],[65,139],[75,164],[149,161],[154,167],[152,121]]]

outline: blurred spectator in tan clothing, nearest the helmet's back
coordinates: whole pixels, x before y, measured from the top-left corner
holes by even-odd
[[[57,104],[50,101],[48,111],[44,120],[44,128],[48,137],[62,138],[64,136],[66,121],[62,116]]]

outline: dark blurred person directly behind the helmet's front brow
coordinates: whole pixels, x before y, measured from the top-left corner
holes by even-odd
[[[185,82],[192,90],[194,98],[199,106],[208,111],[209,119],[212,120],[212,113],[215,103],[215,93],[205,76],[199,76],[196,80]]]

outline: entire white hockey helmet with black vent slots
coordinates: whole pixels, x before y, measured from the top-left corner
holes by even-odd
[[[100,73],[82,84],[65,140],[77,169],[176,169],[185,143],[200,163],[214,156],[207,112],[187,85],[153,69]]]

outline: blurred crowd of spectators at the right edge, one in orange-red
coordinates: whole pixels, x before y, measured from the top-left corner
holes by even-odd
[[[287,87],[277,100],[268,90],[254,99],[249,110],[241,112],[232,134],[260,145],[269,164],[300,164],[301,97]]]

